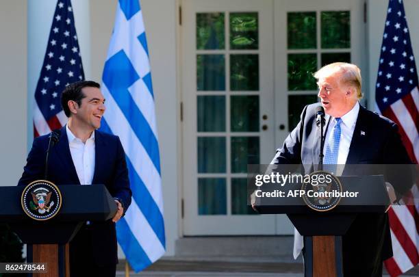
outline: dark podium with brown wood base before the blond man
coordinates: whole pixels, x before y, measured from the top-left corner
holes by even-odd
[[[301,198],[269,198],[256,202],[259,213],[286,213],[304,236],[305,277],[342,277],[342,236],[359,213],[385,213],[390,204],[383,175],[338,177],[357,198],[341,198],[330,211],[314,211]],[[277,189],[278,187],[275,187]],[[292,186],[281,188],[285,194]]]

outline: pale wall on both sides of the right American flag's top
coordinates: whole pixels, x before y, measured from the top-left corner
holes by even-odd
[[[416,68],[419,65],[419,1],[404,0],[407,27],[409,27],[411,47],[416,59]],[[368,53],[369,53],[369,76],[370,95],[368,97],[368,107],[374,109],[375,101],[375,82],[379,66],[381,43],[383,42],[384,23],[387,16],[388,1],[368,0]]]

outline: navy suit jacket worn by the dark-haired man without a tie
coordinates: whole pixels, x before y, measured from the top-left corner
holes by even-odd
[[[60,129],[60,140],[49,153],[49,181],[55,185],[79,185],[79,178],[71,158],[66,127]],[[18,185],[44,179],[45,157],[49,135],[36,137]],[[95,167],[92,184],[103,184],[112,197],[120,198],[125,211],[131,204],[127,163],[119,137],[94,131]],[[124,211],[124,212],[125,212]],[[116,229],[112,220],[92,222],[92,251],[98,265],[117,263]],[[71,247],[71,244],[70,244]],[[86,246],[88,247],[88,246]]]

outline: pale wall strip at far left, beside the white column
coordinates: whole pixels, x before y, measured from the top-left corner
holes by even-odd
[[[27,1],[0,1],[0,185],[16,185],[26,159]]]

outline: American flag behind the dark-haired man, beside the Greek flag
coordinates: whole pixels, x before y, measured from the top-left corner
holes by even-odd
[[[45,135],[67,122],[60,96],[69,83],[84,79],[70,0],[58,0],[36,85],[34,136]]]

